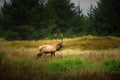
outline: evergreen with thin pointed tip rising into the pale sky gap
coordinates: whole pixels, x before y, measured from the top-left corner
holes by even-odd
[[[72,30],[75,35],[85,35],[86,34],[86,18],[82,13],[80,8],[80,2],[78,1],[78,6],[75,8],[75,15],[71,20],[69,26],[72,27]]]

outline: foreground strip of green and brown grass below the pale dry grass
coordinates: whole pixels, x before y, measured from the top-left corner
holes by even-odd
[[[2,65],[0,66],[0,78],[5,80],[29,80],[34,78],[36,80],[78,80],[79,78],[83,80],[91,78],[110,80],[108,77],[111,77],[111,71],[119,74],[120,69],[119,62],[116,60],[104,60],[96,64],[95,61],[83,60],[80,57],[62,58],[47,62],[28,59],[10,61],[8,59],[7,63],[3,62]],[[4,77],[4,75],[9,77]]]

